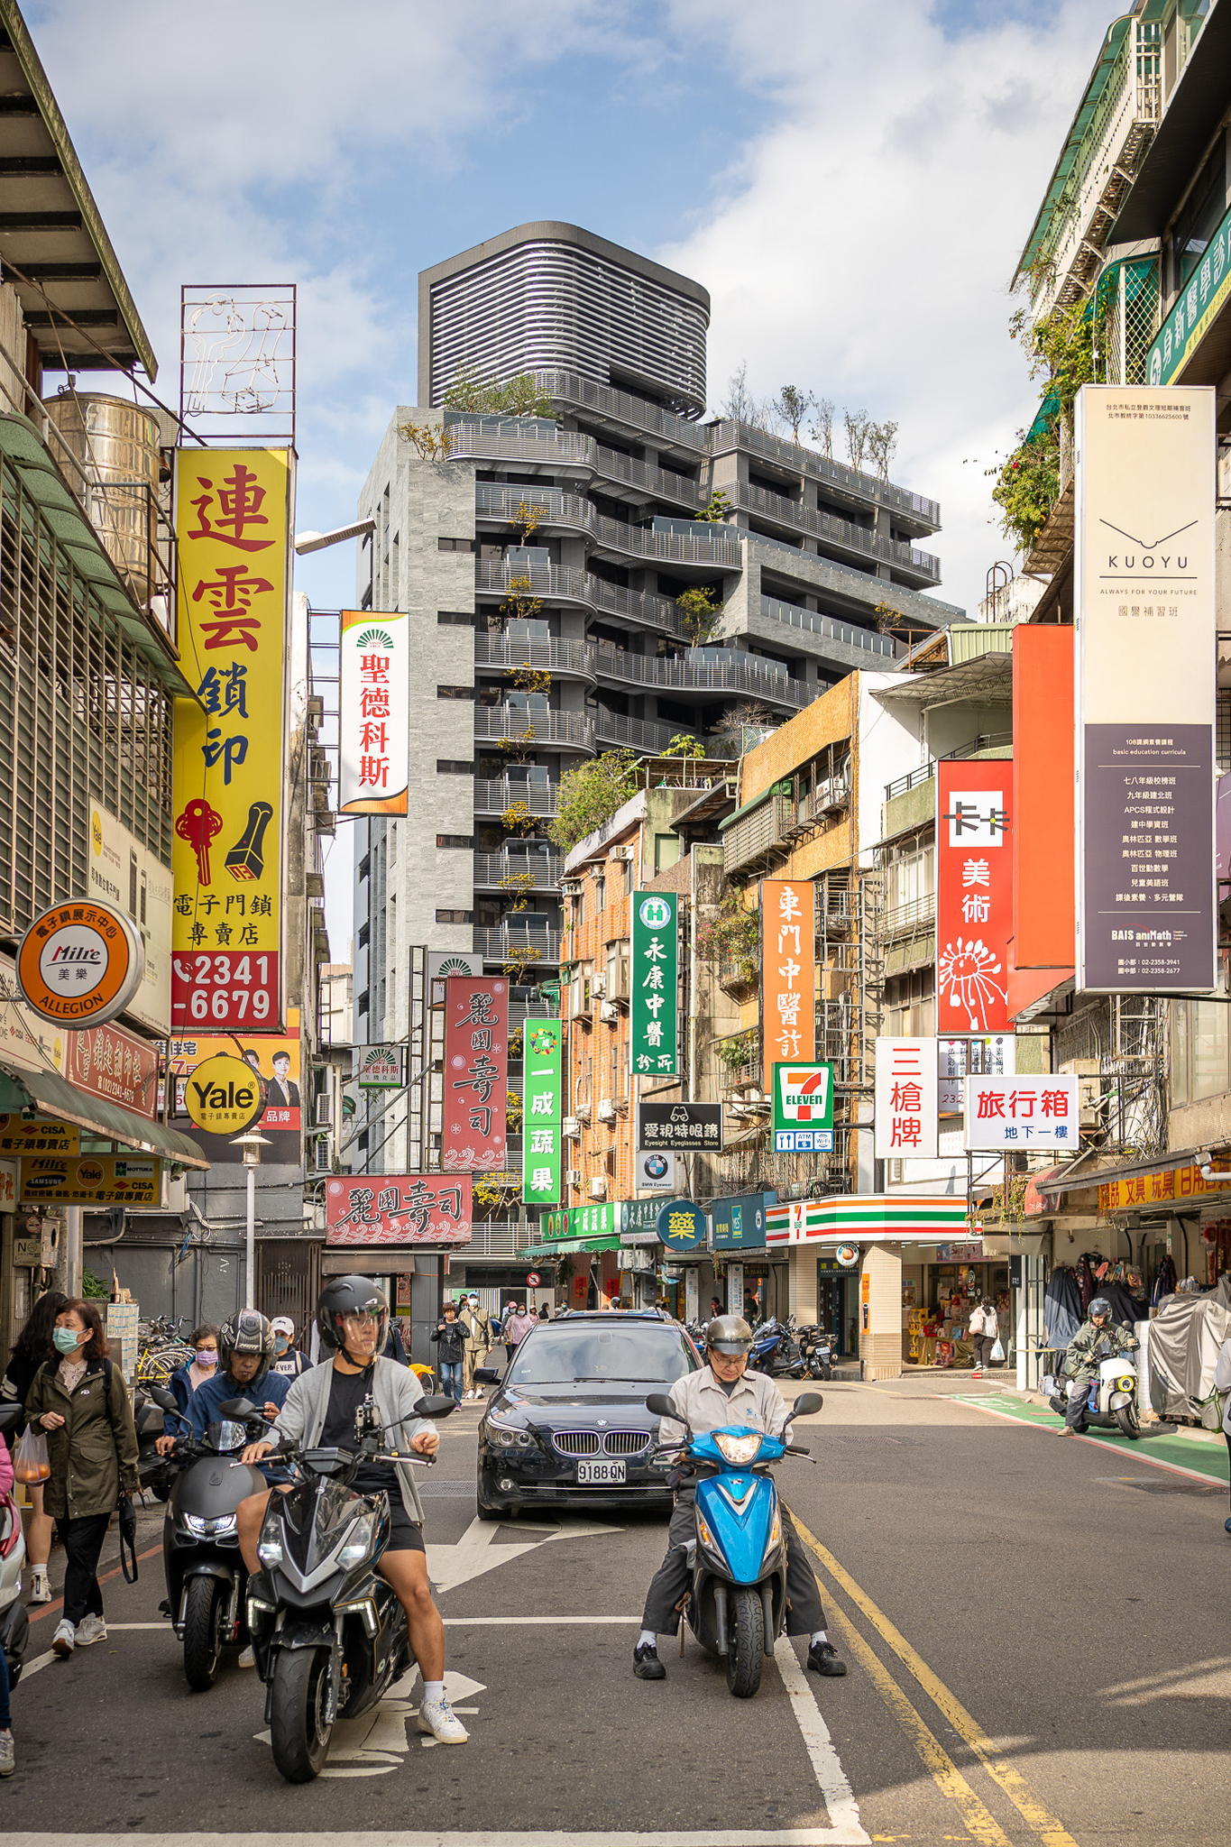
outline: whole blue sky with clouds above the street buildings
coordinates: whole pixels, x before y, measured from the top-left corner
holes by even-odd
[[[1008,284],[1113,6],[1094,0],[28,0],[177,392],[185,281],[299,283],[299,526],[345,523],[415,397],[417,272],[563,218],[712,296],[740,360],[901,425],[939,595],[1006,545],[984,469],[1034,414]],[[94,380],[90,380],[94,382]],[[305,560],[325,606],[351,547]]]

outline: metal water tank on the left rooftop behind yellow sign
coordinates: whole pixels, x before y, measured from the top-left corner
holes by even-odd
[[[44,401],[50,447],[138,604],[155,589],[159,421],[105,392]],[[57,440],[59,438],[59,440]]]

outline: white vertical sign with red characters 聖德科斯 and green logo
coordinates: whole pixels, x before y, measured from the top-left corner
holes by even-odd
[[[410,624],[341,611],[340,815],[404,815],[410,783]]]

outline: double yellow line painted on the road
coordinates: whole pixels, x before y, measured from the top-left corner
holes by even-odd
[[[825,1572],[840,1585],[851,1598],[856,1609],[864,1612],[867,1622],[873,1625],[882,1642],[897,1655],[902,1666],[915,1677],[923,1692],[928,1696],[932,1705],[949,1720],[952,1729],[976,1755],[991,1781],[1008,1795],[1010,1803],[1021,1814],[1026,1827],[1039,1838],[1043,1847],[1078,1847],[1072,1834],[1065,1829],[1056,1816],[1037,1799],[1034,1790],[1026,1784],[1024,1777],[1013,1769],[1008,1758],[997,1751],[991,1738],[984,1732],[982,1725],[965,1710],[962,1701],[952,1694],[941,1679],[928,1668],[926,1660],[917,1649],[910,1646],[906,1636],[897,1629],[890,1618],[878,1609],[867,1592],[855,1583],[851,1574],[838,1564],[832,1551],[821,1546],[816,1533],[792,1513],[795,1522],[795,1531],[812,1548],[819,1559]],[[878,1655],[873,1653],[869,1644],[858,1633],[855,1624],[831,1601],[834,1620],[842,1629],[843,1640],[851,1653],[858,1659],[860,1666],[873,1681],[880,1696],[884,1697],[890,1710],[895,1714],[902,1729],[908,1732],[919,1758],[936,1781],[938,1790],[949,1801],[952,1801],[965,1823],[967,1832],[973,1840],[980,1841],[980,1847],[1011,1847],[1011,1841],[997,1817],[991,1814],[987,1805],[974,1793],[971,1784],[965,1781],[954,1760],[949,1756],[945,1747],[939,1744],[936,1734],[928,1729],[925,1718],[910,1703],[902,1688],[897,1684],[893,1675],[888,1672]]]

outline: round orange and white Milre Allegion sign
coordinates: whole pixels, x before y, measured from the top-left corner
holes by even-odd
[[[111,905],[52,905],[33,920],[17,951],[22,999],[42,1020],[94,1027],[122,1014],[146,975],[133,922]]]

